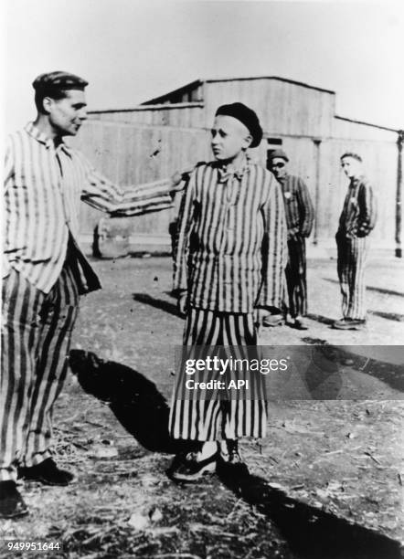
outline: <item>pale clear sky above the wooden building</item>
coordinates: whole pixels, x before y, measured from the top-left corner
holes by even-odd
[[[130,108],[194,79],[280,76],[335,90],[335,112],[404,128],[404,2],[5,0],[5,132],[31,83],[64,69],[89,109]],[[231,101],[231,100],[230,100]]]

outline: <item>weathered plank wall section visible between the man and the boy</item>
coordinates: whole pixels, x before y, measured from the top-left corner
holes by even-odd
[[[170,177],[197,161],[206,161],[207,134],[167,126],[147,127],[122,122],[87,121],[70,141],[110,180],[127,187]],[[102,212],[87,204],[80,208],[80,233],[89,240]],[[128,218],[133,236],[167,242],[168,224],[175,209]]]

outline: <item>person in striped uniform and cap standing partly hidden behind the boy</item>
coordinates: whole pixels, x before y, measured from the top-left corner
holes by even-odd
[[[314,223],[314,207],[307,186],[298,176],[288,173],[289,158],[283,150],[274,150],[269,157],[269,168],[281,184],[288,225],[288,264],[286,283],[288,289],[288,311],[292,326],[307,330],[304,316],[307,314],[306,282],[306,237],[309,237]],[[285,298],[286,299],[286,298]],[[272,314],[264,325],[277,325],[282,314]]]

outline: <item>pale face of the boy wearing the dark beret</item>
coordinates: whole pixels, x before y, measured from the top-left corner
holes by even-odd
[[[215,117],[211,133],[210,145],[217,161],[232,161],[252,141],[248,128],[242,122],[223,114]]]

